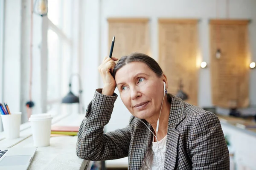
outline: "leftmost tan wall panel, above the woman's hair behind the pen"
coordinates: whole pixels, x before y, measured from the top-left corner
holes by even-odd
[[[150,39],[147,18],[108,18],[109,50],[115,36],[113,57],[120,58],[132,52],[149,54]]]

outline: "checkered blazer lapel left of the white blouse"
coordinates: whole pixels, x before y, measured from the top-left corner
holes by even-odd
[[[150,126],[146,121],[145,123],[148,127]],[[151,126],[150,128],[153,130]],[[128,170],[140,170],[151,142],[152,134],[148,128],[145,128],[145,125],[144,127],[135,127],[133,136],[131,136],[131,145],[129,148]]]

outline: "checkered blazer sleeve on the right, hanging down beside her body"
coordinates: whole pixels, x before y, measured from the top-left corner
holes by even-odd
[[[218,117],[210,112],[197,116],[189,136],[192,169],[229,170],[229,151]]]

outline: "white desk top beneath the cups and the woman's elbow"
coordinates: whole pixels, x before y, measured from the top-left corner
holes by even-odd
[[[84,114],[58,116],[52,119],[52,125],[79,126]],[[76,156],[77,136],[53,136],[50,146],[37,147],[29,170],[84,170],[88,161]],[[0,133],[1,148],[32,147],[33,139],[30,122],[20,126],[20,138],[5,139]]]

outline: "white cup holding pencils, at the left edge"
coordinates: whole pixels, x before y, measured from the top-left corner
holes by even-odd
[[[20,137],[21,112],[12,112],[2,115],[3,131],[6,139],[15,139]]]

